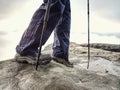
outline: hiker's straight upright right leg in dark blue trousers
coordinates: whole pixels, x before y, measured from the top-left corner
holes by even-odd
[[[54,31],[53,56],[68,60],[71,10],[67,0],[63,16]]]

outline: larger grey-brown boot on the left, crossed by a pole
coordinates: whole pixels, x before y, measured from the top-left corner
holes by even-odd
[[[32,65],[36,65],[36,62],[37,62],[36,58],[37,58],[36,55],[34,56],[22,56],[20,54],[15,55],[15,60],[17,62],[32,64]],[[49,54],[45,54],[45,55],[41,54],[38,64],[46,65],[50,63],[50,61],[51,61],[51,56]]]

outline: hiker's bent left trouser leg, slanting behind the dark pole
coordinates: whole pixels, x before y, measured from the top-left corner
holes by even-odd
[[[47,0],[38,8],[34,13],[32,20],[24,32],[20,43],[16,47],[17,53],[20,55],[33,55],[38,51],[38,45],[40,42],[40,35],[43,26],[44,13],[46,10]],[[42,45],[47,41],[56,24],[58,23],[64,10],[64,4],[61,0],[52,0],[49,21],[47,24],[46,31],[43,35]]]

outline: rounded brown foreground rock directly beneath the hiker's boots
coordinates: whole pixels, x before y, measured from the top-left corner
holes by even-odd
[[[51,62],[46,66],[0,62],[0,90],[119,90],[120,77]]]

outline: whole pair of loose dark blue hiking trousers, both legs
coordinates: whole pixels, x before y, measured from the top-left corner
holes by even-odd
[[[24,32],[16,52],[20,55],[34,55],[38,52],[47,0],[34,13]],[[54,30],[53,56],[68,59],[71,10],[69,0],[52,0],[47,28],[43,33],[42,45]]]

